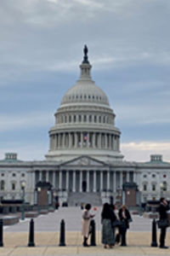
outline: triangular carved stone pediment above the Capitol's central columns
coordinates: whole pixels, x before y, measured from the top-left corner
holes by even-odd
[[[81,156],[65,162],[63,166],[106,166],[106,164],[103,161],[95,160],[88,156]]]

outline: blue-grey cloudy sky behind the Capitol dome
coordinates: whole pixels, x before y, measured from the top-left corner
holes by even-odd
[[[0,159],[16,152],[44,160],[54,113],[88,44],[124,159],[170,161],[169,0],[0,2]]]

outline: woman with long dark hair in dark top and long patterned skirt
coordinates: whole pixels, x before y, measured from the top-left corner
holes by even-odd
[[[115,239],[113,236],[113,230],[111,224],[116,219],[113,211],[111,210],[111,206],[108,203],[104,204],[103,210],[101,212],[102,218],[102,243],[104,244],[104,248],[107,248],[109,245],[112,248],[112,245],[115,244]]]

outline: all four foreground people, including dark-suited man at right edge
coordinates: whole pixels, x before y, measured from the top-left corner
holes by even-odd
[[[90,214],[89,210],[91,209],[91,205],[87,204],[84,207],[82,212],[82,236],[83,236],[83,246],[88,247],[88,235],[90,228],[90,219],[94,218],[94,215]],[[169,213],[169,207],[167,201],[164,197],[160,199],[159,206],[159,221],[160,225],[160,248],[167,249],[165,246],[165,238],[166,238],[166,230],[169,226],[169,220],[167,217],[167,213]],[[127,210],[126,205],[122,205],[120,210],[116,212],[116,207],[110,205],[109,203],[105,203],[103,206],[103,210],[101,212],[101,222],[102,222],[102,243],[104,244],[104,248],[110,247],[112,248],[117,241],[117,237],[122,236],[122,224],[124,227],[124,232],[126,236],[126,231],[129,228],[129,223],[132,221],[130,212]],[[158,224],[159,227],[159,224]],[[118,230],[116,234],[116,229]],[[118,235],[118,236],[117,236]],[[119,238],[120,240],[120,238]]]

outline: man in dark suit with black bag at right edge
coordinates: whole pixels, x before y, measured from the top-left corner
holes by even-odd
[[[164,197],[161,197],[160,199],[160,206],[159,206],[159,214],[160,214],[160,220],[164,220],[167,218],[167,211],[169,210],[169,207],[167,205],[167,201]],[[165,237],[166,237],[166,230],[167,227],[161,228],[161,234],[160,234],[160,248],[167,249],[168,247],[165,246]]]

